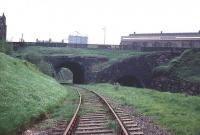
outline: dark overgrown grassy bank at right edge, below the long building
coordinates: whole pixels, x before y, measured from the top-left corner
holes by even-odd
[[[184,51],[169,63],[157,67],[155,72],[173,74],[181,79],[200,82],[200,49]]]

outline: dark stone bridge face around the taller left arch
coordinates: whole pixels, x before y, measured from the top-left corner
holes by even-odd
[[[95,81],[95,75],[92,72],[92,67],[107,61],[107,58],[98,57],[81,57],[81,56],[46,56],[44,58],[48,63],[52,64],[56,73],[61,68],[68,68],[73,73],[73,83],[85,84]]]

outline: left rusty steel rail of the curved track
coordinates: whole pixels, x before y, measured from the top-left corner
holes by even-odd
[[[71,135],[72,134],[73,129],[76,126],[76,123],[77,123],[78,118],[79,118],[78,112],[80,110],[80,106],[81,106],[81,103],[82,103],[82,98],[81,98],[80,92],[78,90],[77,90],[77,92],[78,92],[78,95],[79,95],[79,104],[78,104],[78,107],[77,107],[77,109],[76,109],[76,111],[75,111],[70,123],[68,124],[65,132],[63,133],[63,135]]]

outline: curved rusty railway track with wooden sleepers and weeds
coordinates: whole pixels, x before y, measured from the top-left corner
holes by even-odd
[[[142,130],[121,108],[113,109],[104,97],[87,89],[78,91],[79,105],[68,124],[52,131],[52,135],[143,135]]]

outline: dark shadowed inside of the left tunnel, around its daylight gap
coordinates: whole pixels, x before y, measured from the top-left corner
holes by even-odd
[[[73,74],[73,84],[84,84],[85,83],[85,75],[84,75],[84,67],[81,64],[76,62],[66,62],[63,65],[60,65],[57,73],[61,71],[62,68],[69,69]]]

